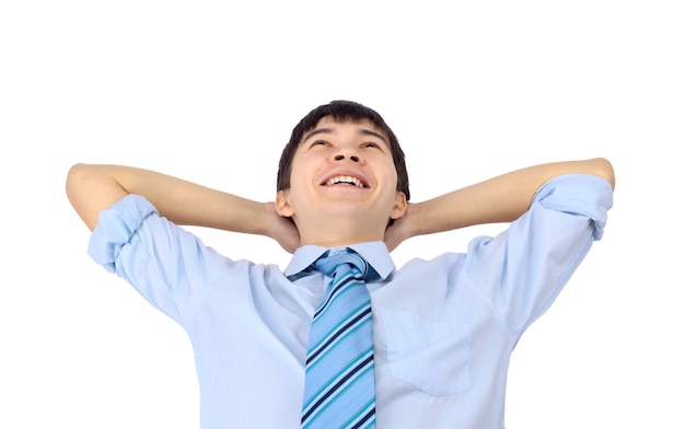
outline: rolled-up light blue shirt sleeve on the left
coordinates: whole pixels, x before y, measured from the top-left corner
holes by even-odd
[[[100,215],[89,255],[132,285],[177,322],[194,313],[231,260],[160,217],[144,197],[128,195]]]

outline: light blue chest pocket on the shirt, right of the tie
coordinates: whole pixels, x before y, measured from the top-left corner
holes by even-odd
[[[433,396],[471,389],[471,331],[463,323],[387,310],[382,318],[393,376]]]

